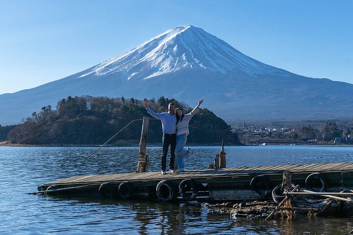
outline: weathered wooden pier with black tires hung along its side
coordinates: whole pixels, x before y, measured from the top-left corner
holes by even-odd
[[[74,176],[38,187],[42,194],[159,199],[227,201],[270,199],[282,183],[285,170],[301,188],[340,191],[353,188],[353,163],[292,164],[224,169],[198,169],[181,173],[133,172]]]

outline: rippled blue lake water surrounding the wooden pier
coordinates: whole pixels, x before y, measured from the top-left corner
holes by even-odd
[[[188,169],[206,168],[220,147],[193,147]],[[81,174],[130,172],[138,147],[0,146],[0,234],[346,234],[353,220],[231,219],[199,203],[112,202],[29,195],[37,186]],[[227,166],[353,162],[353,147],[232,146]],[[149,170],[159,170],[160,147],[149,147]]]

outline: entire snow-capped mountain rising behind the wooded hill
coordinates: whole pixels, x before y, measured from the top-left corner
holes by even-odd
[[[204,107],[228,121],[353,116],[353,85],[261,63],[203,29],[176,27],[87,70],[0,95],[0,124],[13,124],[68,95],[157,98]]]

